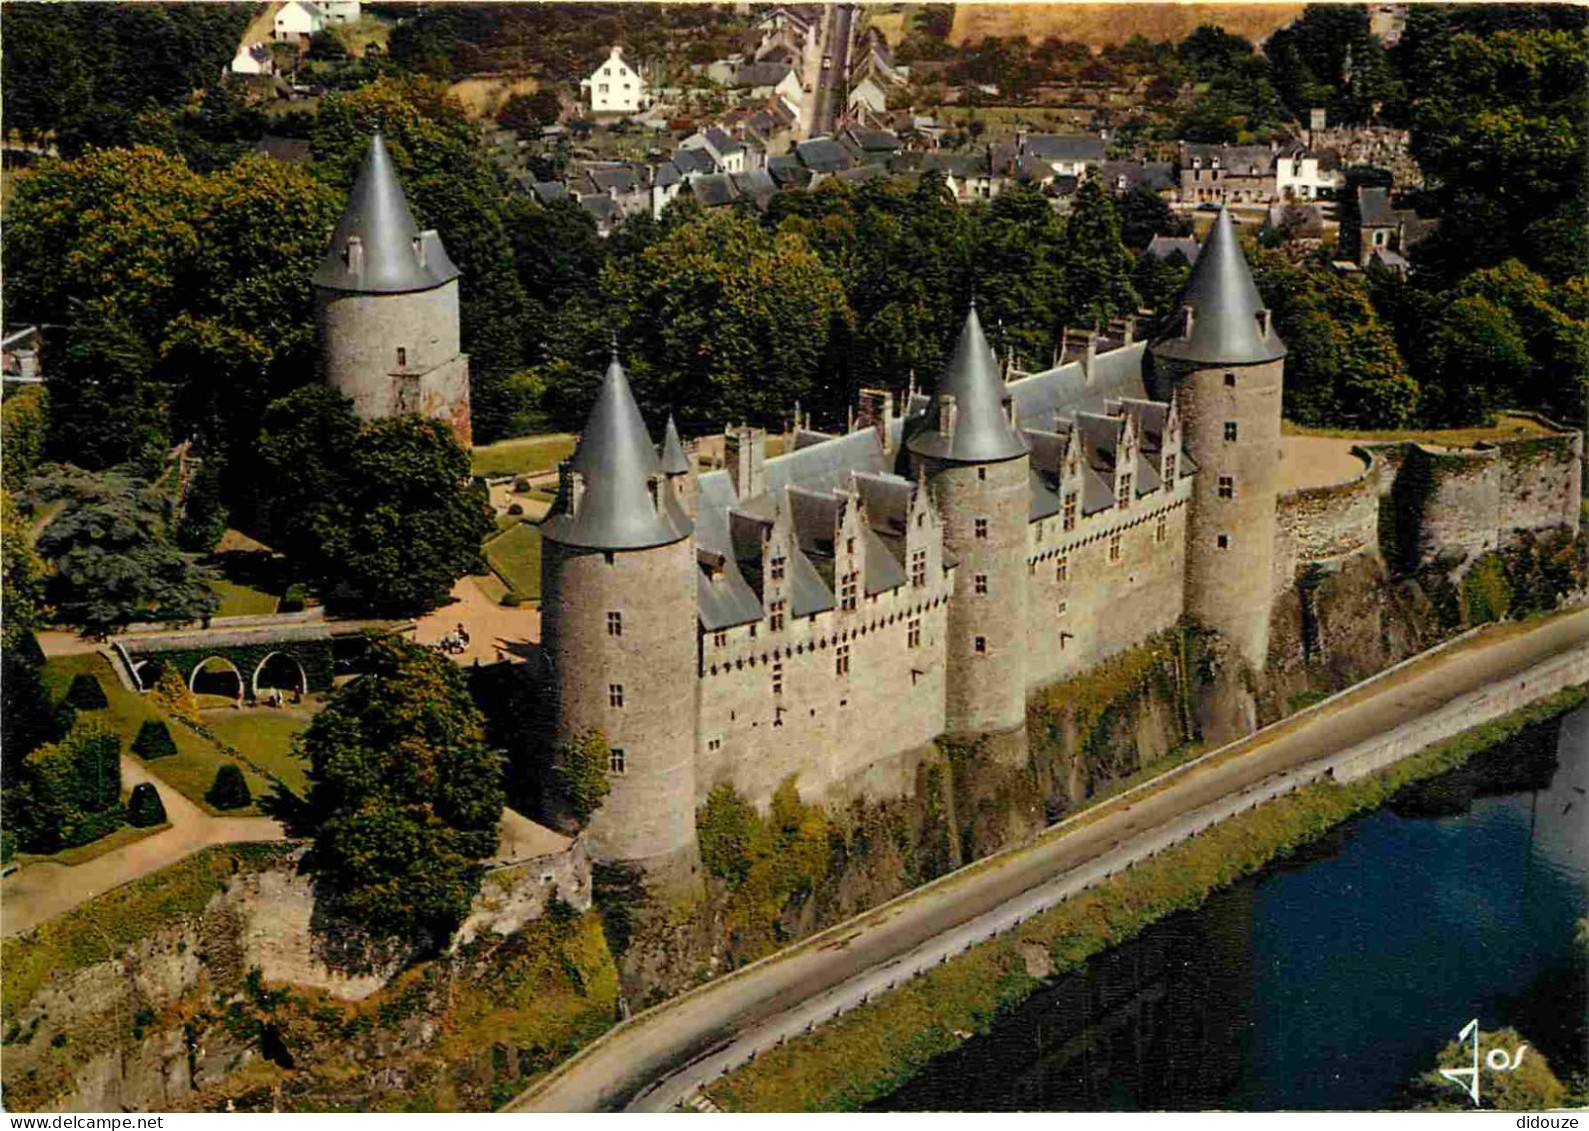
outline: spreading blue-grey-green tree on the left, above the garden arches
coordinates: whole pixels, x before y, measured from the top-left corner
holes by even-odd
[[[168,497],[143,480],[76,469],[33,480],[25,502],[60,502],[38,534],[56,613],[87,632],[133,621],[188,621],[216,596],[173,545]]]

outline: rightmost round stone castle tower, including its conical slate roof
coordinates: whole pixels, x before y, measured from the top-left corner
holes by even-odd
[[[1227,211],[1198,253],[1177,322],[1150,349],[1179,397],[1185,448],[1198,467],[1187,531],[1187,612],[1262,669],[1270,647],[1286,346]]]

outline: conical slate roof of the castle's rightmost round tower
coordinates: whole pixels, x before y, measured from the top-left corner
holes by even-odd
[[[1236,226],[1224,208],[1181,295],[1181,308],[1187,307],[1192,310],[1190,329],[1182,313],[1168,334],[1154,342],[1155,356],[1200,365],[1255,365],[1286,356],[1286,343],[1274,327],[1270,324],[1265,330],[1263,299],[1236,241]]]

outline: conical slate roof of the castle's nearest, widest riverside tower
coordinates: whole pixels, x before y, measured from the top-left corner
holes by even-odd
[[[558,499],[542,537],[590,550],[645,550],[679,542],[693,529],[672,491],[651,492],[661,465],[617,349],[570,465],[585,489],[577,504],[567,494]]]

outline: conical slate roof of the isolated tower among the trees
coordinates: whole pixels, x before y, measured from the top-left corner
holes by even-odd
[[[358,245],[350,245],[358,240]],[[435,232],[419,232],[380,133],[370,138],[353,181],[348,210],[331,249],[315,268],[315,286],[359,294],[429,291],[458,278]]]

